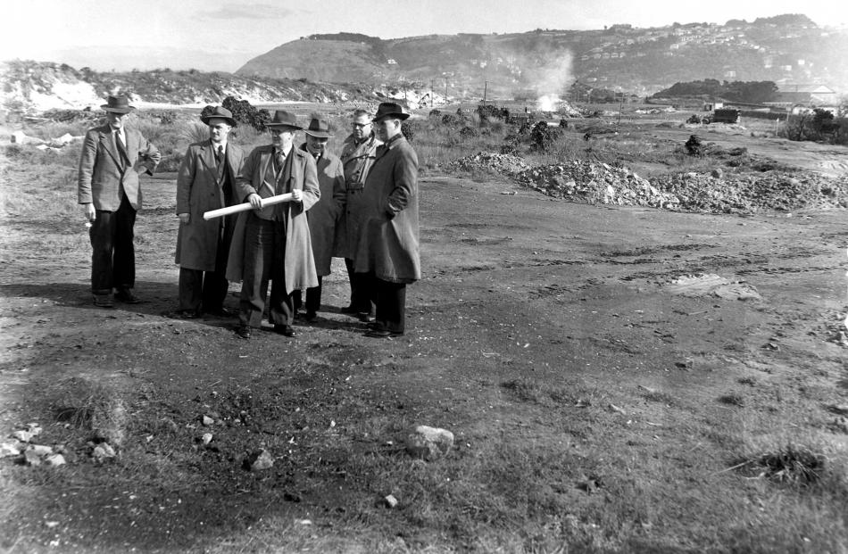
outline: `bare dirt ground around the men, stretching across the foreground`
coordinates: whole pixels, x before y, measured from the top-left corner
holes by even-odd
[[[830,174],[848,162],[832,146],[704,138]],[[162,315],[177,296],[175,183],[165,175],[143,186],[137,305],[92,306],[81,217],[4,220],[0,431],[37,422],[45,430],[34,442],[63,445],[69,461],[0,463],[4,552],[271,551],[251,537],[274,521],[295,537],[281,551],[367,551],[397,537],[405,546],[395,551],[486,551],[475,533],[489,545],[510,544],[498,533],[525,533],[512,520],[486,526],[479,516],[457,530],[409,517],[415,497],[393,472],[407,463],[397,434],[416,424],[456,435],[454,480],[503,443],[531,453],[560,445],[555,452],[584,461],[539,478],[578,516],[598,501],[575,492],[581,475],[621,502],[623,475],[642,473],[639,486],[660,488],[640,500],[630,536],[643,551],[698,551],[727,544],[706,537],[732,527],[743,504],[783,494],[725,471],[744,445],[816,434],[848,448],[829,408],[848,402],[844,211],[596,207],[506,181],[429,176],[420,182],[424,278],[408,290],[405,336],[368,338],[339,312],[348,288],[337,264],[317,321],[297,321],[294,340],[245,342],[232,319]],[[56,385],[72,377],[127,399],[119,462],[94,463],[87,438],[51,417]],[[214,440],[204,446],[199,418],[209,414]],[[241,467],[260,447],[275,456],[270,474]],[[365,462],[353,459],[382,460],[387,473],[358,474]],[[398,481],[382,486],[379,475]],[[523,498],[504,481],[489,484],[495,496]],[[663,483],[678,499],[692,495],[679,501],[688,507],[679,523],[662,508]],[[389,492],[402,509],[374,509]],[[686,524],[702,517],[703,529]],[[824,551],[826,534],[795,536],[786,551]],[[329,536],[335,546],[314,546]],[[622,544],[607,551],[629,550]]]

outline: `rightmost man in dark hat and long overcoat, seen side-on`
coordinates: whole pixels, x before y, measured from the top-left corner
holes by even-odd
[[[421,278],[418,219],[418,156],[401,132],[409,113],[397,103],[379,104],[374,127],[383,141],[365,180],[365,230],[355,264],[374,287],[377,310],[366,335],[403,335],[406,285]]]

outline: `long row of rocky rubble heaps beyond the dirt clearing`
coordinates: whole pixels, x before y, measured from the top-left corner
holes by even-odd
[[[496,171],[544,194],[581,203],[707,213],[848,208],[848,176],[713,170],[646,179],[627,168],[597,161],[531,168],[518,156],[483,152],[453,161],[449,168]]]

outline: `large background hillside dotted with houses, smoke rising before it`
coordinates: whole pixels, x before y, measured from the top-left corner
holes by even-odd
[[[428,35],[382,40],[351,33],[279,45],[237,70],[243,77],[404,83],[479,95],[560,94],[574,79],[645,95],[678,81],[771,80],[848,89],[848,31],[803,15],[753,22],[675,23],[639,29],[552,30],[507,35]]]

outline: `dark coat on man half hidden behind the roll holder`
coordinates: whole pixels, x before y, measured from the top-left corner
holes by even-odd
[[[304,152],[306,145],[301,146]],[[310,154],[312,155],[312,154]],[[306,214],[309,234],[312,238],[312,256],[315,270],[321,277],[330,274],[335,253],[336,225],[345,210],[345,171],[342,161],[332,153],[325,152],[316,161],[321,199]]]

